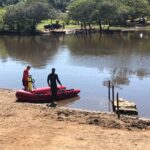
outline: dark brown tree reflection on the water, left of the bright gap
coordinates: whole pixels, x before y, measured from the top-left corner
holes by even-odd
[[[44,36],[4,36],[0,44],[5,51],[0,51],[2,60],[10,57],[14,60],[27,62],[33,67],[44,67],[47,61],[55,56],[59,47],[59,38],[46,38]],[[4,57],[5,56],[5,57]]]

